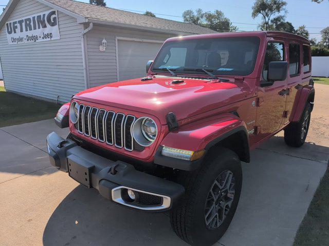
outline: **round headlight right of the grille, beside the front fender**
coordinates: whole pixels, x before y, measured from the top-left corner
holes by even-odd
[[[158,128],[153,119],[141,117],[135,121],[132,132],[136,142],[146,147],[153,144],[158,133]]]

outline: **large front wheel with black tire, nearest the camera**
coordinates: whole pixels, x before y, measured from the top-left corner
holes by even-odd
[[[224,195],[222,192],[218,192],[220,187],[215,180],[223,186],[222,191],[228,188],[228,183],[231,181],[230,187],[223,192]],[[223,180],[227,180],[224,185]],[[173,231],[191,245],[212,245],[228,229],[239,202],[242,188],[242,169],[239,157],[231,150],[214,147],[208,152],[200,170],[180,171],[176,181],[185,187],[186,193],[180,206],[171,211],[170,222]],[[234,193],[232,193],[233,188]],[[214,196],[217,197],[217,195],[219,197],[214,202]],[[225,202],[222,201],[222,198]],[[226,202],[228,202],[227,206],[224,205]],[[217,216],[211,220],[217,207],[220,208],[219,212],[223,212],[223,207],[228,209],[228,211],[225,210],[224,219],[221,216],[223,213],[218,213],[218,218],[221,218],[219,223],[216,220]],[[210,210],[210,208],[213,209]]]

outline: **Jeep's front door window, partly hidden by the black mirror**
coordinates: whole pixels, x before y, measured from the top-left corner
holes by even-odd
[[[267,43],[264,65],[263,65],[263,79],[267,81],[268,66],[271,61],[284,60],[284,44],[279,42]]]

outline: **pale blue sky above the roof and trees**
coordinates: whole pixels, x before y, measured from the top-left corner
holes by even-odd
[[[79,0],[89,3],[89,0]],[[9,0],[0,0],[0,5],[7,5]],[[305,25],[310,37],[321,39],[321,29],[329,26],[329,1],[324,0],[321,4],[313,3],[310,0],[286,0],[286,20],[291,22],[295,28]],[[128,10],[135,13],[142,13],[149,10],[157,17],[177,20],[182,22],[182,13],[187,9],[203,9],[204,11],[221,10],[228,17],[234,26],[239,30],[257,30],[261,18],[251,17],[251,7],[254,1],[246,0],[105,0],[106,6]],[[2,8],[0,13],[2,12]]]

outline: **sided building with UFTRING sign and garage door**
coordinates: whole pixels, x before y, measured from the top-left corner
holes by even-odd
[[[11,0],[0,16],[7,91],[61,102],[145,75],[169,37],[214,31],[71,0]]]

